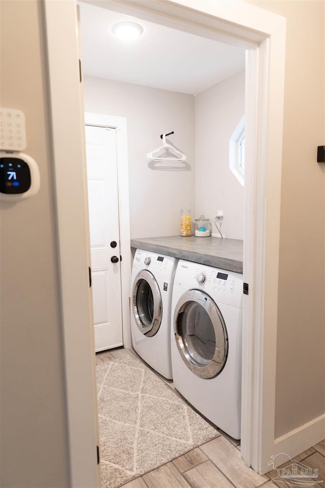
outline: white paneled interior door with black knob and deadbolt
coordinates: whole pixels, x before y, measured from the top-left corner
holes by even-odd
[[[95,350],[123,345],[116,130],[87,126]]]

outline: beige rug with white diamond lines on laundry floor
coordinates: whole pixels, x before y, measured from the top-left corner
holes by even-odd
[[[96,366],[103,488],[116,488],[220,434],[132,352]]]

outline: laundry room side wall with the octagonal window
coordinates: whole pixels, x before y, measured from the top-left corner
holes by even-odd
[[[211,220],[223,210],[221,231],[243,238],[244,187],[229,169],[229,139],[245,113],[242,71],[195,97],[196,213]]]

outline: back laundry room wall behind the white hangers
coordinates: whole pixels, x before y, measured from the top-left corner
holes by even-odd
[[[84,100],[86,112],[127,118],[131,238],[179,234],[180,209],[195,210],[194,97],[85,76]],[[151,169],[147,153],[171,131],[186,171]]]

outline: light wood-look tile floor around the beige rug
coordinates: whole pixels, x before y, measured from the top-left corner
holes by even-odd
[[[132,349],[130,351],[136,354]],[[96,363],[109,359],[106,356],[109,354],[97,354]],[[165,381],[173,388],[172,381]],[[241,459],[239,442],[222,431],[220,434],[220,437],[129,481],[120,488],[293,488],[288,482],[272,481],[277,476],[277,470],[261,476],[248,468]],[[325,439],[295,456],[295,460],[313,470],[318,469],[318,483],[313,484],[313,487],[325,488]],[[284,463],[281,467],[287,464]]]

